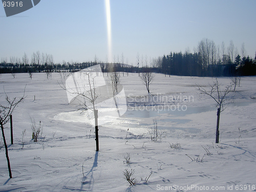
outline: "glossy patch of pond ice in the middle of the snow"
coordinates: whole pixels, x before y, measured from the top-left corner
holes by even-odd
[[[236,102],[230,103],[228,107],[234,106],[246,106],[252,102]],[[106,113],[111,111],[112,108],[105,108]],[[138,108],[139,109],[139,108]],[[154,127],[154,121],[157,121],[158,129],[162,130],[179,130],[186,133],[199,133],[200,129],[197,127],[191,127],[189,123],[193,121],[193,114],[200,113],[217,113],[216,105],[206,106],[187,106],[186,110],[180,109],[166,109],[166,110],[127,110],[121,117],[116,118],[111,115],[99,115],[99,121],[102,122],[102,126],[111,127],[113,129],[122,129],[129,131],[133,130],[134,134],[147,133],[147,129]],[[108,113],[107,113],[108,114]],[[90,120],[87,117],[87,112],[80,113],[79,111],[73,111],[68,113],[61,113],[54,117],[56,120],[63,120],[69,122],[84,122],[90,124]]]

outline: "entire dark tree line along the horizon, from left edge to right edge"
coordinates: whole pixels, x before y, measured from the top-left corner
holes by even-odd
[[[123,58],[123,54],[122,54]],[[254,58],[246,56],[244,44],[239,53],[230,40],[226,47],[224,42],[217,46],[213,40],[202,39],[198,47],[191,53],[186,50],[182,52],[170,52],[162,57],[153,58],[150,62],[137,55],[137,65],[131,66],[123,62],[114,63],[115,68],[98,61],[95,56],[94,61],[88,62],[65,62],[54,63],[53,55],[44,54],[37,51],[31,55],[31,59],[24,53],[22,59],[17,57],[2,58],[0,62],[0,73],[52,73],[52,72],[75,72],[97,64],[101,64],[102,72],[129,72],[142,73],[143,71],[163,73],[165,75],[179,76],[248,76],[256,75],[256,53]],[[119,60],[119,59],[118,59]],[[112,63],[113,64],[113,63]]]

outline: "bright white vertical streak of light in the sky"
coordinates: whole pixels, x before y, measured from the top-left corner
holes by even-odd
[[[108,31],[108,62],[112,62],[110,0],[105,0],[105,9],[106,9],[106,26]]]

